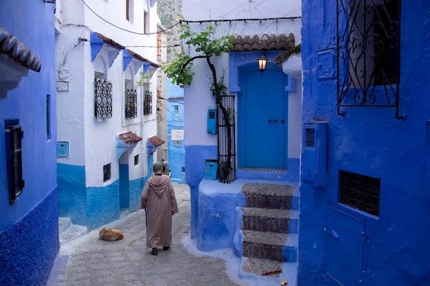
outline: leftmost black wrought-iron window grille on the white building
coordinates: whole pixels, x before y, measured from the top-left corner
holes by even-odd
[[[97,78],[94,84],[95,118],[112,117],[112,83]]]

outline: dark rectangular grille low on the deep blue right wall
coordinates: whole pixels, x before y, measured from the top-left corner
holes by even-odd
[[[381,179],[339,170],[340,202],[379,216]]]

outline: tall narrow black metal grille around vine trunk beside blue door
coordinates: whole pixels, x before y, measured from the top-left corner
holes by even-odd
[[[221,100],[229,115],[229,124],[225,122],[223,111],[218,106],[218,181],[229,184],[236,181],[234,96],[222,96]]]

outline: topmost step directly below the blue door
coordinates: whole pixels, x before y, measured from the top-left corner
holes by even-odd
[[[299,193],[294,186],[246,183],[241,192],[245,194],[249,208],[299,209]]]

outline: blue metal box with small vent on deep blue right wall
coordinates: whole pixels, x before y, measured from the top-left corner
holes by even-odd
[[[327,122],[304,124],[302,179],[313,186],[326,186]]]

